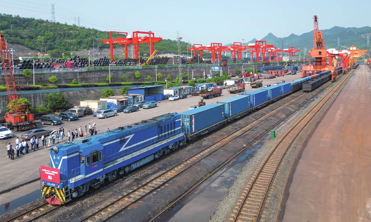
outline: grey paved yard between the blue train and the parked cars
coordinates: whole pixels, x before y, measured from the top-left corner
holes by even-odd
[[[296,80],[300,78],[300,74],[297,75],[286,75],[284,77],[278,77],[270,80],[263,80],[263,85],[271,84],[273,85],[280,80],[285,80],[286,82]],[[261,89],[261,88],[258,88]],[[245,92],[257,90],[255,88],[247,87]],[[206,104],[216,103],[217,101],[224,100],[229,97],[233,97],[236,94],[230,94],[227,90],[223,90],[221,97],[214,97],[212,99],[206,99]],[[88,97],[88,96],[87,96]],[[82,128],[85,125],[96,123],[96,130],[98,133],[104,132],[109,127],[114,129],[120,126],[133,124],[148,118],[152,118],[161,114],[168,112],[183,112],[188,110],[191,105],[197,105],[201,97],[198,96],[189,96],[188,98],[177,100],[177,101],[168,101],[164,100],[158,103],[156,108],[151,108],[148,110],[140,108],[138,112],[132,113],[122,113],[120,112],[116,117],[109,117],[106,119],[98,119],[93,116],[84,116],[79,118],[77,121],[66,121],[63,120],[60,125],[41,125],[40,121],[37,122],[37,128],[40,129],[52,129],[58,130],[59,127],[65,128],[65,134],[72,129]],[[24,132],[24,131],[23,131]],[[22,184],[23,182],[30,181],[39,177],[39,167],[40,165],[46,165],[50,162],[49,160],[49,151],[47,149],[40,149],[36,152],[30,151],[27,155],[21,155],[16,158],[14,161],[11,161],[6,156],[6,145],[10,142],[14,144],[17,136],[23,132],[13,132],[14,135],[12,138],[2,139],[0,141],[0,147],[3,149],[3,155],[0,155],[0,187],[1,190],[13,187],[17,184]],[[66,139],[66,138],[65,138]]]

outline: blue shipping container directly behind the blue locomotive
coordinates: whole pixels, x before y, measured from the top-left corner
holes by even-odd
[[[225,119],[224,104],[209,104],[180,113],[182,131],[194,134]]]

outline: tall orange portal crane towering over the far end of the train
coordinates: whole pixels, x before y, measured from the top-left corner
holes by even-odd
[[[307,65],[302,68],[301,77],[306,77],[307,71],[331,71],[331,81],[336,81],[335,67],[332,65],[326,65],[327,51],[325,41],[322,36],[322,31],[318,28],[318,18],[313,17],[313,48],[309,51],[308,56],[314,58],[313,65]]]

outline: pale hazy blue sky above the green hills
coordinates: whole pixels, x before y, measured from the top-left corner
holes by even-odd
[[[227,1],[227,0],[0,0],[0,13],[51,18],[50,3],[55,3],[55,19],[103,31],[153,31],[155,36],[175,39],[177,31],[184,41],[207,45],[244,42],[268,33],[287,37],[313,30],[313,15],[319,28],[334,26],[371,26],[368,10],[371,0],[326,1]],[[76,22],[77,23],[77,22]]]

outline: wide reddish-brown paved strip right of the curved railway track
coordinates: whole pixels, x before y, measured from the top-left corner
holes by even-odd
[[[279,221],[371,221],[370,102],[359,65],[299,154]]]

